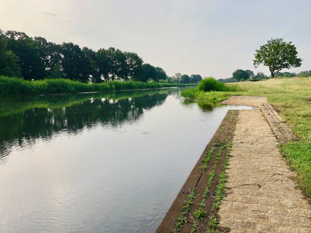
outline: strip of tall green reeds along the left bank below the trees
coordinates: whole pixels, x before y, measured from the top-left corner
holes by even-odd
[[[92,91],[104,92],[194,85],[195,84],[145,83],[134,81],[109,81],[107,83],[100,84],[86,84],[69,79],[27,81],[20,78],[0,76],[0,96],[64,94]]]

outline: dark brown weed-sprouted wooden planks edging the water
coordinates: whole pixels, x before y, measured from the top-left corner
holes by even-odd
[[[172,232],[176,226],[177,218],[181,216],[183,210],[182,207],[184,205],[184,201],[189,200],[188,195],[191,194],[192,190],[194,191],[195,198],[192,199],[193,204],[189,205],[190,210],[186,215],[183,217],[186,218],[186,221],[183,222],[182,227],[179,227],[177,230],[179,233],[182,232],[191,232],[193,228],[193,212],[195,212],[199,206],[198,204],[202,202],[202,194],[207,188],[207,182],[209,180],[209,174],[214,169],[214,162],[216,157],[213,157],[208,162],[208,166],[205,170],[202,171],[202,162],[206,159],[207,151],[210,151],[212,147],[215,147],[215,153],[221,150],[220,162],[216,164],[215,173],[216,176],[214,177],[211,186],[208,189],[207,198],[205,200],[205,206],[203,210],[206,211],[206,215],[203,220],[199,221],[199,226],[201,232],[205,232],[208,229],[208,216],[211,215],[211,208],[215,198],[215,191],[216,185],[218,184],[219,176],[222,172],[222,165],[225,160],[226,156],[226,149],[222,149],[221,146],[224,143],[229,143],[232,137],[232,129],[235,124],[235,119],[237,117],[238,111],[232,110],[228,111],[225,115],[225,118],[222,120],[220,126],[216,130],[215,134],[213,135],[210,142],[207,144],[204,152],[202,153],[201,157],[198,159],[196,165],[194,166],[193,170],[191,171],[190,175],[188,176],[187,180],[185,181],[183,187],[179,191],[176,199],[172,203],[171,207],[169,208],[168,212],[166,213],[164,219],[162,220],[160,226],[156,230],[157,233],[163,232]]]

